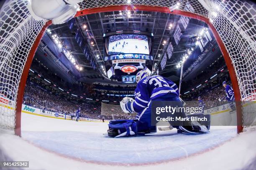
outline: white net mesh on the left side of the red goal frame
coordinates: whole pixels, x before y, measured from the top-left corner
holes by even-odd
[[[15,128],[18,85],[28,53],[44,22],[28,12],[26,0],[9,1],[0,11],[0,126]]]

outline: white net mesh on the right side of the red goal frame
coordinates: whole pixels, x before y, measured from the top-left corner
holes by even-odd
[[[243,100],[256,93],[256,5],[229,0],[208,1],[215,29],[228,50]]]

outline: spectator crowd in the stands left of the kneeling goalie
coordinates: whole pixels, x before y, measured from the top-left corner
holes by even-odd
[[[48,91],[38,85],[36,82],[28,81],[26,84],[23,104],[67,115],[73,115],[74,112],[81,107],[80,117],[101,119],[128,119],[131,116],[118,110],[110,109],[109,113],[105,112],[101,115],[101,103],[84,103],[69,101],[54,92]],[[132,117],[133,118],[133,117]]]

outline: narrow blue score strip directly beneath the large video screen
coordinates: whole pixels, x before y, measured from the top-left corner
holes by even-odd
[[[153,60],[153,56],[144,55],[144,54],[118,54],[118,55],[106,56],[104,58],[105,61],[107,61],[107,60],[119,60],[119,59]]]

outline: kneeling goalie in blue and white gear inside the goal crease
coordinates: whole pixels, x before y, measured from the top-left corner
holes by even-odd
[[[159,75],[149,76],[146,70],[136,75],[137,87],[134,92],[135,99],[124,97],[120,106],[125,113],[136,112],[136,120],[111,120],[108,135],[110,137],[129,137],[145,135],[156,132],[156,125],[151,125],[151,107],[153,101],[180,101],[177,85]],[[175,112],[175,116],[187,117],[184,112]],[[200,115],[198,115],[200,117]],[[209,133],[210,121],[201,125],[197,121],[182,122],[173,125],[178,133]]]

